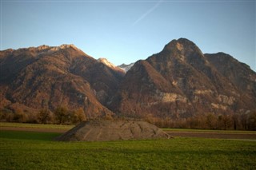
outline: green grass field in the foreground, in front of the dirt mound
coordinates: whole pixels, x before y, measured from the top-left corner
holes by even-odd
[[[58,142],[54,132],[0,131],[0,169],[255,169],[256,142],[174,138]]]

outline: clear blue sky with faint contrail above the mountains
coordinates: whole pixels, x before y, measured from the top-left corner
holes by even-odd
[[[121,65],[187,38],[256,70],[255,0],[1,0],[0,12],[1,50],[74,44]]]

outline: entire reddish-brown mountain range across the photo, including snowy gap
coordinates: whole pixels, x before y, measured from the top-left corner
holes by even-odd
[[[87,117],[186,118],[256,109],[256,73],[226,53],[202,53],[180,38],[130,65],[98,60],[74,45],[0,51],[0,109],[58,105]],[[7,110],[7,111],[6,111]]]

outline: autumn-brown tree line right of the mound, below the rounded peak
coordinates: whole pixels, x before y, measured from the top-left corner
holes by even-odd
[[[144,119],[160,128],[194,128],[219,130],[256,130],[256,111],[242,114],[198,114],[193,117],[165,119],[148,115]]]

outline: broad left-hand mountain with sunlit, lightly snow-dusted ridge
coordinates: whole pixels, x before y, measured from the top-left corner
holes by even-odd
[[[1,109],[84,109],[87,117],[113,114],[104,106],[124,73],[74,45],[41,45],[0,52]]]

